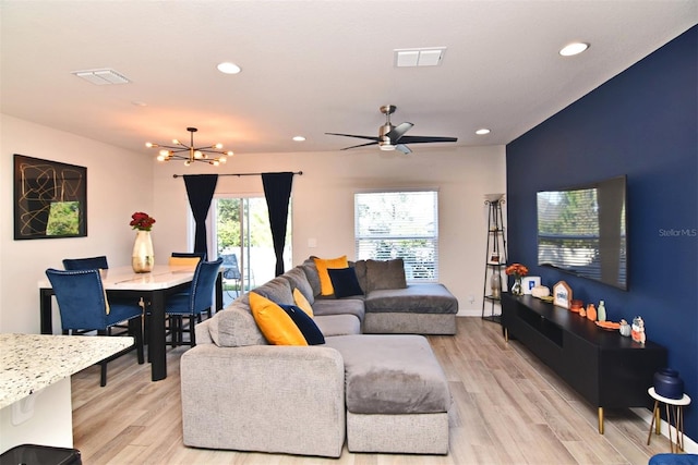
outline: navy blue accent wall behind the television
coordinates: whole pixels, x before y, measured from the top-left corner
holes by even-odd
[[[592,53],[590,49],[587,53]],[[698,26],[506,147],[509,261],[575,297],[604,299],[609,319],[642,316],[669,350],[693,405],[698,442]],[[537,266],[537,191],[627,175],[627,292]]]

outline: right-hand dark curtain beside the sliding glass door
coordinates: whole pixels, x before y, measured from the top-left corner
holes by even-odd
[[[286,243],[286,220],[288,200],[291,198],[293,173],[262,173],[266,207],[269,210],[269,227],[276,255],[276,276],[284,274],[284,245]]]

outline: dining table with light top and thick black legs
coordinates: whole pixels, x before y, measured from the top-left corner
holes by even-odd
[[[149,308],[149,323],[147,327],[146,343],[148,345],[148,360],[151,363],[151,377],[153,381],[167,378],[166,359],[166,318],[165,304],[167,296],[186,291],[194,278],[195,267],[155,265],[153,270],[136,273],[131,266],[115,267],[100,270],[101,281],[110,296],[143,298]],[[53,290],[48,278],[40,280],[39,308],[41,334],[53,333],[52,296]],[[222,279],[218,272],[216,279],[214,311],[222,307]]]

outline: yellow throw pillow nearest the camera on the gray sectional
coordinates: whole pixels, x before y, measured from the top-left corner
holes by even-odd
[[[256,292],[251,292],[250,307],[260,330],[270,344],[308,345],[301,330],[276,303]]]

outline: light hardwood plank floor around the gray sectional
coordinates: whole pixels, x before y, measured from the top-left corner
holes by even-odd
[[[74,375],[74,446],[87,465],[647,464],[651,455],[669,452],[665,437],[646,444],[649,425],[628,409],[606,409],[605,433],[599,435],[597,409],[518,342],[506,343],[496,323],[458,318],[457,335],[429,339],[454,400],[448,455],[352,454],[345,445],[333,460],[185,448],[182,347],[168,352],[163,381],[151,382],[149,366],[139,366],[135,354],[109,364],[106,388],[99,388],[98,367]]]

